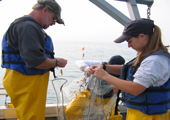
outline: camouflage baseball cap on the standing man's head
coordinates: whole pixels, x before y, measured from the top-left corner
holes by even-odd
[[[56,14],[57,23],[64,24],[64,21],[61,19],[61,7],[55,0],[37,0],[37,2],[48,7]]]

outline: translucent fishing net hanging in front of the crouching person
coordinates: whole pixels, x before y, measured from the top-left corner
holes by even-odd
[[[63,91],[71,98],[65,109],[67,120],[111,120],[114,116],[113,85],[94,75],[74,80]]]

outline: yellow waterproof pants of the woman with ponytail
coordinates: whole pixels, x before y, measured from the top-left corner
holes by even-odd
[[[139,110],[127,108],[126,120],[170,120],[170,110],[165,114],[147,115]]]

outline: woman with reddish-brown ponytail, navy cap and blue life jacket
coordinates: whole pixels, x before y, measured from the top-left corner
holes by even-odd
[[[122,91],[128,107],[126,120],[169,120],[170,54],[163,45],[161,30],[154,21],[137,19],[128,23],[114,42],[127,41],[137,57],[125,65],[91,66],[90,73]],[[122,79],[108,73],[121,74]]]

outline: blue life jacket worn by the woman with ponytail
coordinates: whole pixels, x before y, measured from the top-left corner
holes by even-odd
[[[170,54],[168,52],[164,53],[163,49],[149,54],[148,56],[150,55],[163,55],[170,59]],[[122,78],[128,81],[133,81],[133,75],[142,62],[140,61],[136,67],[132,67],[134,61],[135,59],[122,67]],[[170,78],[164,85],[158,87],[149,87],[143,93],[137,96],[122,91],[121,100],[124,102],[126,107],[138,109],[148,115],[167,113],[167,111],[170,109]]]

